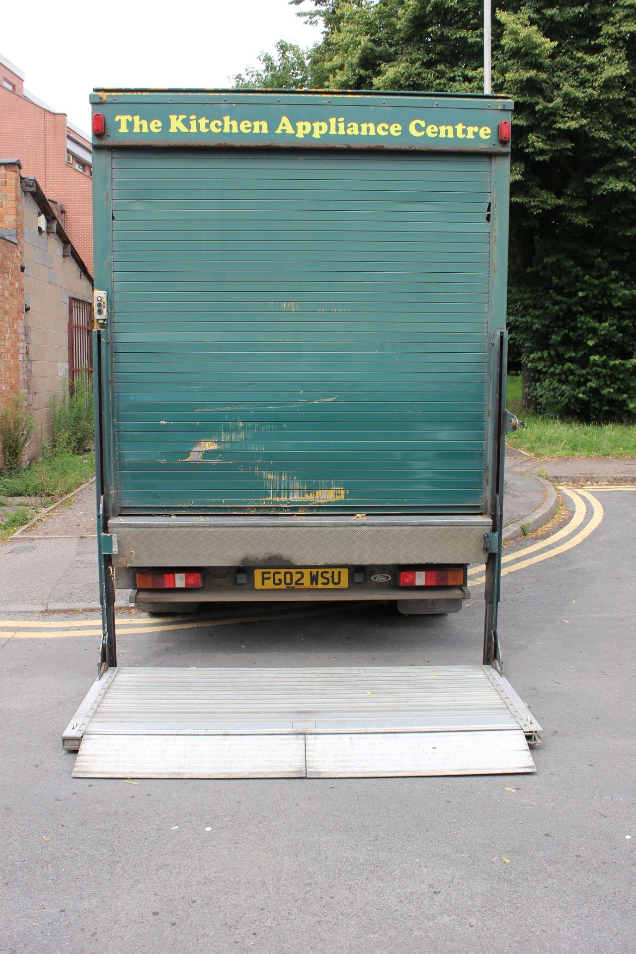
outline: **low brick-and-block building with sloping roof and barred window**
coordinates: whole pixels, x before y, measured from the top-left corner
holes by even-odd
[[[51,436],[51,398],[91,367],[92,277],[33,176],[0,158],[0,408],[22,394],[35,418],[27,456]],[[0,448],[0,463],[2,460]]]

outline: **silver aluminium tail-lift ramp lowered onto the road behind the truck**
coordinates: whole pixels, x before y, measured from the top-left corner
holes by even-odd
[[[540,728],[490,666],[113,667],[63,742],[74,778],[489,775]]]

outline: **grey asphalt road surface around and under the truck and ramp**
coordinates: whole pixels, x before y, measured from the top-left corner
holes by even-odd
[[[534,776],[73,779],[60,734],[95,637],[3,640],[0,951],[634,951],[636,493],[596,496],[597,529],[503,581],[504,674],[544,726]],[[443,619],[120,633],[119,661],[479,662],[481,624],[477,589]]]

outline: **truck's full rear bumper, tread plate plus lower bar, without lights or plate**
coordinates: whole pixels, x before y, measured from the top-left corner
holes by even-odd
[[[162,567],[200,569],[201,590],[138,591],[136,603],[330,602],[334,600],[465,600],[467,586],[398,589],[396,568],[466,566],[485,562],[482,516],[385,517],[115,517],[115,586],[134,589],[135,571]],[[364,570],[347,590],[256,590],[256,567],[347,567]],[[236,586],[236,568],[245,568]],[[380,580],[381,578],[381,580]]]

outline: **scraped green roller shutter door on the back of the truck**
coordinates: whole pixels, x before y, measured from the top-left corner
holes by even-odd
[[[490,157],[113,154],[122,512],[480,512]]]

